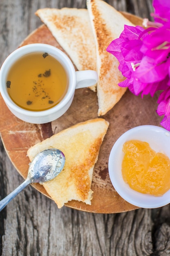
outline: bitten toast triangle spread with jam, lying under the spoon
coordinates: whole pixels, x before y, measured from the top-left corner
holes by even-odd
[[[102,118],[91,119],[62,130],[29,148],[27,154],[30,161],[47,148],[58,148],[66,157],[60,175],[43,184],[58,208],[71,200],[91,204],[93,169],[108,125],[108,121]]]

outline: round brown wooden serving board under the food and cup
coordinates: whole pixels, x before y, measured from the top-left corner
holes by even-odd
[[[140,18],[127,13],[124,13],[124,15],[134,24],[141,25]],[[30,43],[47,43],[62,49],[45,25],[33,31],[20,46]],[[145,124],[159,126],[161,118],[156,114],[156,109],[157,95],[153,98],[148,95],[141,99],[141,97],[134,96],[128,90],[126,91],[116,106],[103,116],[104,119],[109,121],[110,126],[93,171],[91,188],[94,193],[91,205],[71,201],[65,204],[66,206],[94,213],[118,213],[137,208],[123,200],[113,188],[108,175],[108,157],[115,141],[130,128]],[[0,96],[0,133],[2,141],[9,158],[22,177],[26,178],[27,176],[29,158],[26,154],[29,147],[60,130],[81,121],[96,118],[97,110],[96,93],[88,88],[77,89],[71,107],[62,117],[48,124],[29,124],[15,117],[8,110]],[[33,186],[49,197],[42,185],[35,184]]]

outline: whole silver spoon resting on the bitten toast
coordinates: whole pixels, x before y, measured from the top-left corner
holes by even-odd
[[[40,152],[29,164],[26,180],[0,201],[0,211],[30,183],[43,184],[55,178],[63,169],[65,156],[59,149],[50,148]]]

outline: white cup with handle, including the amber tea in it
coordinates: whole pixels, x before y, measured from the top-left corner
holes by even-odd
[[[97,80],[94,70],[75,72],[60,49],[38,43],[20,47],[7,57],[0,70],[0,92],[16,117],[43,124],[68,110],[75,89]]]

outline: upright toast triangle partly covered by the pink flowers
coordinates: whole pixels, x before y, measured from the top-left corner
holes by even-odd
[[[103,0],[87,0],[86,3],[97,49],[98,116],[101,116],[115,106],[127,89],[118,86],[124,77],[118,70],[119,62],[106,48],[120,36],[124,25],[133,24]]]

